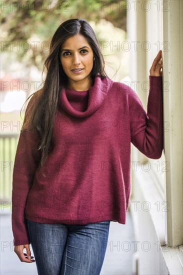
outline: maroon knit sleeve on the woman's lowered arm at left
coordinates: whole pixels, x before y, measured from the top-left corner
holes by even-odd
[[[25,111],[24,121],[28,115],[28,110],[31,108],[33,97],[29,100]],[[31,188],[34,173],[38,164],[39,153],[38,134],[35,130],[20,131],[16,154],[14,159],[13,175],[12,175],[12,213],[11,225],[13,232],[13,244],[29,244],[30,239],[26,227],[24,217],[24,208],[26,198]]]

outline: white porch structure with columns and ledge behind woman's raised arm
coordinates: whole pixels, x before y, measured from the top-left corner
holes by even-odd
[[[180,245],[183,243],[182,1],[129,2],[131,6],[127,11],[127,34],[131,43],[131,87],[134,89],[133,83],[139,81],[137,93],[146,109],[148,92],[142,90],[142,83],[148,81],[152,61],[158,50],[162,49],[163,115],[166,121],[164,150],[158,159],[160,171],[153,168],[148,172],[143,171],[140,165],[137,170],[131,169],[130,211],[137,241],[134,273],[178,275],[182,274]],[[133,46],[135,41],[137,50]],[[150,45],[148,50],[145,47],[147,45]],[[146,158],[131,145],[131,161],[133,160],[139,160],[140,163],[148,160],[151,166],[157,161]],[[162,171],[163,161],[169,164],[166,171]],[[166,201],[169,203],[167,208]],[[150,209],[146,210],[148,205]]]

